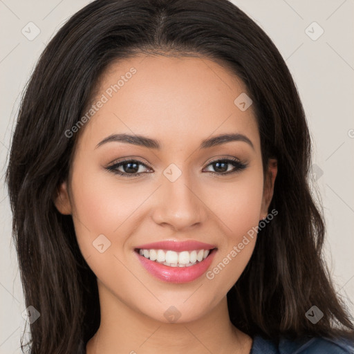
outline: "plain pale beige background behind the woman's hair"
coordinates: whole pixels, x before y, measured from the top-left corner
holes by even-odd
[[[21,91],[48,40],[85,0],[0,0],[0,353],[21,353],[25,320],[4,173]],[[292,72],[313,136],[327,223],[326,259],[354,313],[354,1],[235,0],[272,38]],[[29,40],[23,28],[40,32]],[[316,24],[314,24],[316,22]],[[35,34],[35,27],[32,27]],[[307,28],[307,29],[306,29]],[[323,32],[323,33],[322,33]],[[311,270],[308,270],[309,272]],[[45,284],[44,284],[45,286]],[[305,315],[305,314],[304,314]]]

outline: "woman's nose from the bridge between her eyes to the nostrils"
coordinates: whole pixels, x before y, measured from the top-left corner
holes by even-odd
[[[198,192],[193,190],[196,183],[193,183],[191,174],[174,164],[169,165],[162,174],[153,220],[176,229],[203,222],[205,207],[198,198]]]

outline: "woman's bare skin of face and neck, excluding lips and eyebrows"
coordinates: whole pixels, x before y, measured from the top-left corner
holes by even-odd
[[[257,237],[250,239],[221,272],[190,283],[167,283],[142,268],[133,249],[142,243],[176,239],[212,243],[218,248],[209,270],[268,214],[277,167],[268,165],[263,186],[261,147],[252,106],[241,111],[234,100],[247,88],[227,68],[199,57],[138,56],[112,64],[96,99],[131,67],[124,82],[80,131],[68,180],[55,201],[73,215],[80,250],[97,276],[101,324],[86,353],[249,353],[252,338],[235,328],[227,312],[227,291],[245,269]],[[160,151],[108,142],[112,133],[142,134],[160,141]],[[199,149],[221,133],[242,133],[246,142]],[[214,159],[238,158],[245,169],[225,176]],[[107,171],[115,160],[135,158],[140,177]],[[173,183],[162,173],[171,163],[182,172]],[[223,171],[234,169],[226,165]],[[120,171],[124,170],[121,166]],[[222,172],[224,173],[224,172]],[[104,234],[111,246],[93,247]],[[164,313],[180,313],[171,323]]]

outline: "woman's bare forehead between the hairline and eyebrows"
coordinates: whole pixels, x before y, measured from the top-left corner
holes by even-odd
[[[93,104],[86,138],[135,133],[160,141],[203,140],[218,133],[248,133],[257,145],[252,105],[241,111],[234,101],[247,87],[225,66],[204,57],[140,55],[106,69]],[[97,140],[96,139],[96,140]]]

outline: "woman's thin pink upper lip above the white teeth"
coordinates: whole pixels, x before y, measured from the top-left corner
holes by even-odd
[[[213,248],[216,248],[216,246],[211,245],[210,243],[203,243],[194,240],[167,240],[153,243],[145,243],[144,245],[136,246],[136,248],[139,250],[171,250],[176,252],[182,252],[193,250],[212,250]]]

